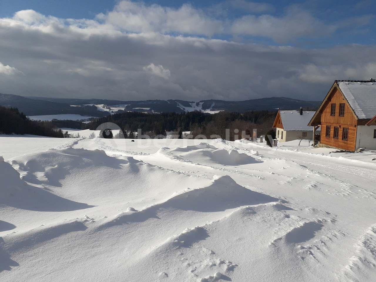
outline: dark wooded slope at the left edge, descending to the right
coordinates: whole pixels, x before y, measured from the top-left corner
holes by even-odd
[[[64,137],[61,129],[57,129],[52,122],[29,120],[17,108],[6,108],[3,106],[0,106],[0,133]]]

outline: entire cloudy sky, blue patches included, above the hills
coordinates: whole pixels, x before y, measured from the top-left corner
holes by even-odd
[[[376,78],[373,1],[0,0],[0,93],[321,100]]]

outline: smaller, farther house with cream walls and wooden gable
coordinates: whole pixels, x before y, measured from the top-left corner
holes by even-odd
[[[313,140],[313,128],[308,126],[315,111],[288,110],[278,111],[274,120],[273,128],[276,129],[276,139],[279,142],[297,139]]]

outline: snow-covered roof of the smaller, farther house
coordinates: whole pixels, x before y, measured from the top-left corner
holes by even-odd
[[[315,111],[303,111],[303,115],[300,115],[300,111],[279,111],[281,121],[285,130],[306,130],[312,131],[312,126],[307,124],[315,114]]]

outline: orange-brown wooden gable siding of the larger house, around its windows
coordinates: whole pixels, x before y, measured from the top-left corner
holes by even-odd
[[[331,115],[332,104],[335,104],[335,115]],[[345,104],[345,114],[340,116],[340,104]],[[356,125],[358,118],[350,108],[349,103],[343,96],[338,87],[334,87],[327,98],[325,104],[321,108],[321,137],[320,143],[328,146],[355,151],[356,146]],[[325,136],[326,126],[331,127],[330,136]],[[338,139],[333,137],[334,127],[339,127]],[[342,140],[343,128],[349,128],[349,136],[347,140]]]

